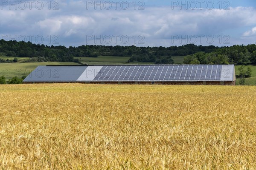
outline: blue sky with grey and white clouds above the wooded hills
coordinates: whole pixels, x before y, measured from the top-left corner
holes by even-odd
[[[0,36],[45,45],[256,43],[255,0],[0,1]]]

